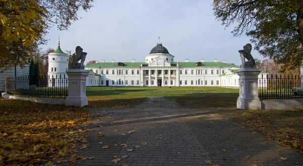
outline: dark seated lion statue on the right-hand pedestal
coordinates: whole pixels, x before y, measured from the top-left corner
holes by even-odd
[[[251,48],[251,44],[247,43],[243,46],[243,50],[239,50],[242,61],[241,68],[256,68],[255,60],[250,54]],[[245,58],[247,59],[247,62],[245,62]]]

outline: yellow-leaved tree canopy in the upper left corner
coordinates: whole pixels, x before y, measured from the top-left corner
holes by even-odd
[[[66,30],[93,0],[0,0],[0,69],[24,67],[54,24]]]

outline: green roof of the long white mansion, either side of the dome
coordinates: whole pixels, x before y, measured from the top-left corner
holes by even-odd
[[[135,63],[131,63],[131,62],[121,62],[123,64],[123,66],[118,66],[118,62],[105,62],[105,63],[95,63],[95,64],[89,64],[86,65],[86,68],[111,68],[111,67],[115,67],[115,68],[138,68],[141,67],[142,65],[148,65],[148,63],[141,63],[141,62],[135,62]],[[197,63],[196,62],[173,62],[171,63],[171,66],[176,66],[178,63],[179,67],[197,67]],[[200,67],[200,66],[198,66]],[[238,67],[237,65],[234,64],[227,64],[227,63],[223,63],[223,62],[203,62],[201,67]]]

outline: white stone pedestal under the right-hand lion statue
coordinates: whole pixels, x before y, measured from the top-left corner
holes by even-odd
[[[261,109],[261,101],[258,96],[258,75],[260,72],[256,68],[241,68],[237,72],[240,77],[237,108]]]

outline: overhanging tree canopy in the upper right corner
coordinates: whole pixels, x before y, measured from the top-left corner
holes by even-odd
[[[264,57],[290,68],[303,59],[303,0],[214,0],[214,15],[234,36],[251,37]]]

